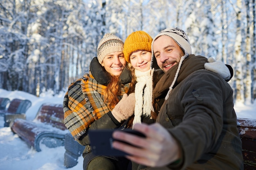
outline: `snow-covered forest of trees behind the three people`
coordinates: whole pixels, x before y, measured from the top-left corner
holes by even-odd
[[[89,71],[105,33],[179,27],[192,53],[234,69],[234,102],[256,99],[255,0],[0,0],[0,88],[57,95]]]

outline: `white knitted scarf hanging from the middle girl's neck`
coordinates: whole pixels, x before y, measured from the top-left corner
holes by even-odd
[[[150,116],[151,110],[154,110],[152,105],[153,73],[154,69],[149,69],[146,72],[135,70],[137,83],[135,85],[135,110],[133,124],[140,124],[141,116]]]

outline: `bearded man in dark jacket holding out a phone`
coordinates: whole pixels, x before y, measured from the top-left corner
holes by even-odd
[[[156,124],[135,124],[146,138],[116,131],[113,142],[128,159],[148,169],[243,170],[233,91],[222,77],[204,69],[207,58],[191,54],[186,33],[165,29],[152,42],[152,60],[165,73],[153,99],[164,99]],[[145,168],[147,169],[147,168]]]

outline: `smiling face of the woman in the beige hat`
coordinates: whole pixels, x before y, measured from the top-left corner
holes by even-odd
[[[106,55],[101,63],[101,66],[103,66],[111,75],[121,75],[124,67],[126,66],[124,53],[114,52]]]

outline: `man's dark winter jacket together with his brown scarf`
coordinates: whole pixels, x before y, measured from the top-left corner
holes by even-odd
[[[177,65],[161,77],[153,91],[153,98],[162,105],[156,122],[177,139],[183,150],[180,164],[165,169],[243,169],[233,90],[222,77],[205,70],[205,62],[205,57],[189,55],[166,101]]]

